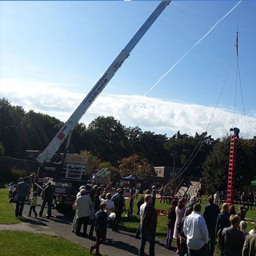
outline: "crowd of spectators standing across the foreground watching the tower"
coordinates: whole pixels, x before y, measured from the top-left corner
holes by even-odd
[[[33,182],[29,182],[30,177],[20,179],[17,186],[10,184],[9,196],[11,201],[15,198],[16,209],[15,215],[22,216],[22,210],[26,198],[31,195],[31,206],[29,216],[32,211],[37,216],[36,201],[37,191],[33,188]],[[30,179],[31,180],[31,179]],[[138,200],[137,214],[140,215],[140,225],[136,231],[135,237],[141,239],[139,256],[144,255],[146,241],[149,243],[149,255],[155,255],[155,239],[157,227],[157,210],[156,204],[156,186],[146,191],[146,194]],[[221,256],[255,256],[256,255],[256,225],[255,230],[246,232],[245,216],[248,211],[248,199],[242,198],[246,196],[242,193],[240,211],[236,213],[234,205],[230,207],[223,203],[219,207],[219,200],[225,200],[223,191],[218,191],[214,196],[209,196],[209,204],[198,204],[199,200],[196,196],[187,198],[173,199],[171,196],[165,195],[166,191],[159,191],[160,203],[170,204],[167,216],[167,236],[166,249],[176,251],[181,256],[213,256],[216,241],[220,248]],[[172,193],[172,191],[170,191]],[[39,216],[44,212],[45,204],[48,204],[47,218],[51,218],[52,198],[54,189],[51,182],[48,182],[44,188],[42,206]],[[254,196],[248,194],[249,198]],[[165,197],[165,198],[164,198]],[[220,199],[223,198],[223,199]],[[165,200],[164,200],[165,199]],[[167,201],[168,199],[168,201]],[[243,200],[242,200],[243,199]],[[253,199],[254,200],[254,199]],[[76,211],[72,223],[72,232],[77,236],[93,237],[95,232],[95,244],[90,247],[90,252],[94,250],[95,255],[99,256],[99,246],[106,239],[108,227],[113,232],[119,232],[118,223],[125,207],[124,189],[112,184],[92,185],[87,184],[81,186],[76,195],[73,209]],[[88,230],[88,225],[90,229]],[[83,226],[83,230],[81,228]],[[173,239],[176,239],[176,246],[172,246]]]

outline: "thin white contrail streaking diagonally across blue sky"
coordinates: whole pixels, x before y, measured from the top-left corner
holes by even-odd
[[[180,62],[180,61],[182,61],[188,54],[189,54],[189,52],[191,52],[195,47],[196,47],[196,45],[198,45],[204,38],[205,38],[205,36],[207,36],[209,33],[211,33],[211,31],[212,31],[212,29],[214,29],[220,22],[221,22],[221,20],[223,20],[225,17],[227,17],[227,15],[228,14],[230,14],[240,3],[241,3],[242,1],[239,1],[229,12],[227,12],[220,20],[218,20],[213,26],[212,26],[212,28],[204,35],[204,36],[202,36],[178,61],[176,61],[173,65],[172,65],[172,67],[163,75],[163,76],[161,76],[158,80],[157,80],[157,82],[148,90],[148,92],[145,92],[144,93],[144,96],[145,95],[147,95],[147,93],[149,93],[149,92],[151,92],[156,86],[157,86],[157,84],[159,84],[160,83],[160,81],[164,78],[164,77],[166,77],[172,70],[173,70],[173,68]]]

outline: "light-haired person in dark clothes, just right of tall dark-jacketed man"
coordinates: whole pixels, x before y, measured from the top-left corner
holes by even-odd
[[[220,243],[222,237],[223,228],[230,227],[230,212],[228,211],[228,205],[224,203],[221,206],[221,212],[218,215],[216,223],[216,237],[218,237],[218,243]],[[220,250],[220,256],[224,256],[223,250]]]

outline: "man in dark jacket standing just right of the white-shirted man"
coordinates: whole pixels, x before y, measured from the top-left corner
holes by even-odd
[[[213,204],[214,198],[212,196],[208,197],[208,201],[210,204],[205,205],[204,207],[204,214],[203,217],[205,219],[208,232],[209,232],[209,243],[208,243],[208,256],[214,255],[214,248],[215,248],[215,229],[216,229],[216,221],[218,215],[220,213],[220,208],[218,205]]]

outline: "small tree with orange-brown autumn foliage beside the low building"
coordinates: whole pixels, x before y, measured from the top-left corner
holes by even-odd
[[[152,175],[152,168],[146,159],[141,159],[138,155],[125,157],[118,161],[118,169],[121,177],[128,175],[136,175],[140,179],[144,179],[147,175]]]

